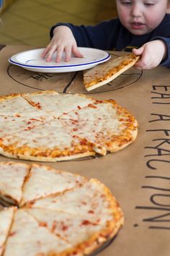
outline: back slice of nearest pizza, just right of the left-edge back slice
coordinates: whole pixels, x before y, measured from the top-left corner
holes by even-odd
[[[33,164],[30,174],[24,182],[20,205],[48,195],[63,193],[85,181],[86,179],[78,174],[58,171],[50,166]]]

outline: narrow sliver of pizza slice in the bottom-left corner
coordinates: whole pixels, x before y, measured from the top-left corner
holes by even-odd
[[[6,239],[9,236],[9,230],[12,226],[15,210],[17,210],[15,207],[0,210],[0,256],[3,255],[4,252]]]

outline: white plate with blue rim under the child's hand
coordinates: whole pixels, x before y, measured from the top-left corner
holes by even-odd
[[[35,72],[46,72],[46,73],[56,73],[56,72],[74,72],[84,69],[90,69],[104,61],[110,59],[110,55],[106,51],[102,51],[95,48],[83,48],[79,47],[79,51],[83,54],[83,58],[76,58],[71,56],[69,62],[65,60],[65,53],[63,53],[60,63],[55,62],[56,53],[53,54],[53,59],[47,62],[42,59],[40,55],[44,48],[34,49],[30,51],[22,51],[18,54],[14,54],[9,62],[23,67],[24,69],[35,71]]]

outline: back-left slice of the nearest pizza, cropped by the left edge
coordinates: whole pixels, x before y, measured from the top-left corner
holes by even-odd
[[[0,198],[4,202],[18,205],[22,198],[24,179],[30,166],[24,163],[4,162],[0,165]]]

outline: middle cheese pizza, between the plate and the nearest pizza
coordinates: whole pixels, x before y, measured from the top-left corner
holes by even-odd
[[[122,150],[138,122],[114,100],[56,91],[0,97],[0,153],[32,161],[64,161]]]

